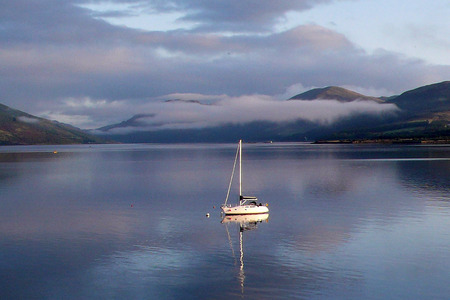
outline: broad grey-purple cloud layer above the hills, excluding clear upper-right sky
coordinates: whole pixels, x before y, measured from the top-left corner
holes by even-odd
[[[118,102],[132,113],[162,95],[272,97],[294,86],[339,85],[389,96],[450,77],[449,66],[368,54],[316,24],[274,29],[287,12],[332,2],[108,1],[109,16],[176,12],[198,24],[157,32],[114,26],[83,6],[102,1],[4,1],[0,102],[40,116],[79,116],[76,125],[87,128],[125,119],[113,113]],[[69,107],[67,99],[103,106]]]

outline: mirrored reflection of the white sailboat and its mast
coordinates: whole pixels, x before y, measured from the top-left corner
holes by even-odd
[[[236,260],[236,255],[234,254],[233,243],[231,241],[230,232],[228,230],[228,224],[234,223],[239,225],[239,275],[238,279],[241,285],[241,293],[244,293],[244,281],[245,281],[245,273],[244,273],[244,240],[243,240],[243,232],[247,230],[253,230],[258,228],[258,223],[262,223],[263,221],[268,222],[269,214],[256,214],[256,215],[225,215],[222,219],[222,224],[225,224],[225,229],[227,230],[228,242],[230,243],[231,252],[233,254],[234,259]]]

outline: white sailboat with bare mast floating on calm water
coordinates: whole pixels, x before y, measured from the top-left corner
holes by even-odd
[[[234,171],[239,156],[239,203],[237,205],[227,204],[230,195],[231,183],[233,182]],[[239,140],[236,157],[234,159],[233,171],[231,172],[230,184],[225,203],[221,206],[222,211],[226,215],[244,215],[244,214],[265,214],[269,212],[268,204],[257,203],[258,198],[254,196],[242,195],[242,140]]]

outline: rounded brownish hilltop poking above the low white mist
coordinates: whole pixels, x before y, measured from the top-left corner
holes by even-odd
[[[325,88],[312,89],[302,94],[298,94],[289,100],[318,100],[318,99],[332,99],[340,102],[351,102],[355,100],[370,100],[376,102],[383,102],[383,100],[376,97],[369,97],[350,91],[337,86],[329,86]]]

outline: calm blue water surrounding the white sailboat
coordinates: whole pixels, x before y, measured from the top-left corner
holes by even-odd
[[[0,299],[448,299],[450,146],[235,148],[0,147]]]

